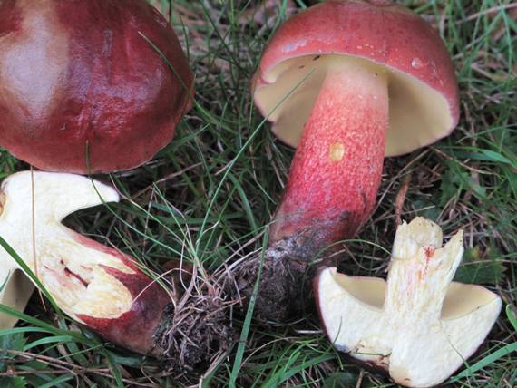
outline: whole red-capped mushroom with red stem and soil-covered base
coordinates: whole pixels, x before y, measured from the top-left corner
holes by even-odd
[[[272,131],[298,147],[258,297],[258,316],[278,319],[301,300],[307,263],[353,237],[370,216],[384,157],[454,129],[458,91],[444,43],[421,17],[387,1],[345,0],[282,24],[262,54],[252,92]]]

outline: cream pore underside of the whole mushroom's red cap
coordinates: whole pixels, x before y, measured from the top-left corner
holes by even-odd
[[[288,59],[267,73],[260,73],[255,102],[268,120],[274,122],[272,130],[280,140],[293,147],[298,145],[328,70],[346,62],[364,63],[367,67],[375,66],[380,73],[387,73],[386,156],[428,145],[446,136],[453,127],[451,109],[444,96],[414,76],[368,59],[315,53]]]

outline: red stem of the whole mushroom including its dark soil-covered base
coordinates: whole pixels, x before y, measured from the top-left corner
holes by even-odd
[[[376,202],[388,122],[386,74],[364,60],[321,61],[326,77],[269,235],[255,308],[261,320],[284,321],[303,308],[307,264],[354,236]],[[254,267],[256,261],[237,276],[242,296],[251,296]]]

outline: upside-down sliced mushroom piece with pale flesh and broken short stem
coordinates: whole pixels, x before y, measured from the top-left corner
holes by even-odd
[[[482,286],[451,283],[462,240],[459,231],[442,247],[442,229],[415,218],[396,231],[387,282],[322,269],[314,288],[332,344],[395,383],[444,382],[483,343],[502,304]]]

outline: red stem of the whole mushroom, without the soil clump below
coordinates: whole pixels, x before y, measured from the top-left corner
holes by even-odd
[[[363,60],[330,63],[291,164],[270,246],[294,238],[303,248],[290,256],[310,261],[357,232],[376,202],[387,125],[384,71]]]

